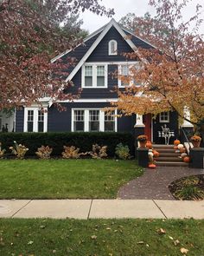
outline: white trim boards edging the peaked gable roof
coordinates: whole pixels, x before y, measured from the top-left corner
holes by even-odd
[[[66,82],[73,79],[73,76],[76,75],[76,73],[80,70],[81,66],[86,62],[87,58],[92,54],[93,50],[96,49],[96,47],[99,45],[101,40],[104,38],[104,36],[107,34],[107,32],[114,27],[116,30],[118,30],[118,33],[124,38],[126,43],[129,44],[131,49],[134,52],[137,52],[137,45],[138,42],[144,43],[146,47],[148,48],[155,48],[150,43],[145,42],[143,39],[139,38],[138,36],[135,36],[131,31],[124,29],[121,25],[119,25],[113,18],[112,20],[105,24],[105,26],[101,27],[99,30],[96,30],[93,32],[90,36],[87,36],[83,43],[87,43],[90,39],[93,39],[94,36],[96,36],[95,41],[92,43],[91,47],[87,49],[84,56],[81,57],[80,62],[76,64],[74,69],[71,70],[70,74],[66,78]],[[130,38],[130,35],[132,36],[132,39]],[[133,38],[134,37],[134,38]],[[133,43],[134,42],[134,43]],[[81,45],[81,44],[80,44]],[[80,47],[77,46],[77,47]],[[76,48],[77,49],[77,48]],[[59,56],[54,57],[51,62],[55,62],[57,59],[66,56],[69,52],[71,52],[73,49],[67,50],[60,54]]]

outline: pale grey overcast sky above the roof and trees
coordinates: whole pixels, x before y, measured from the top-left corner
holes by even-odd
[[[133,12],[137,16],[143,16],[145,12],[149,11],[151,15],[155,15],[155,9],[148,5],[149,0],[102,0],[101,3],[103,3],[106,8],[113,8],[115,10],[115,16],[113,17],[117,22],[122,16],[125,16],[129,12]],[[200,3],[203,6],[204,0],[193,0],[189,3],[188,8],[186,8],[183,13],[184,19],[194,15],[196,3]],[[202,14],[204,18],[204,12],[202,12]],[[111,19],[105,16],[97,16],[89,11],[81,14],[80,17],[84,21],[82,28],[89,30],[90,33],[98,30]],[[204,23],[202,24],[200,32],[204,33]]]

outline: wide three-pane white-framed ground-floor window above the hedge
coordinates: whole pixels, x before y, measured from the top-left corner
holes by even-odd
[[[116,113],[107,115],[99,108],[73,108],[72,132],[117,132]]]

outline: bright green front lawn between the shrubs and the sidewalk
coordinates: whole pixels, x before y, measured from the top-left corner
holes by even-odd
[[[0,199],[116,198],[141,174],[136,161],[1,160]]]

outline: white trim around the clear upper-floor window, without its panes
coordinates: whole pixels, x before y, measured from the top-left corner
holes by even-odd
[[[92,66],[92,86],[85,86],[85,67]],[[105,66],[105,86],[97,86],[97,66]],[[107,89],[108,88],[108,64],[104,62],[84,64],[81,69],[81,87],[83,89]]]

